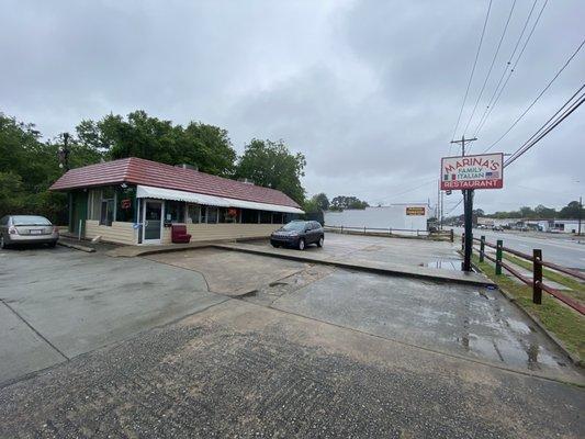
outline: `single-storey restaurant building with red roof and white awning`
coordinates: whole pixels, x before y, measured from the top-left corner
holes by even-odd
[[[67,171],[50,188],[69,194],[69,232],[119,244],[266,237],[304,212],[270,188],[136,157]]]

